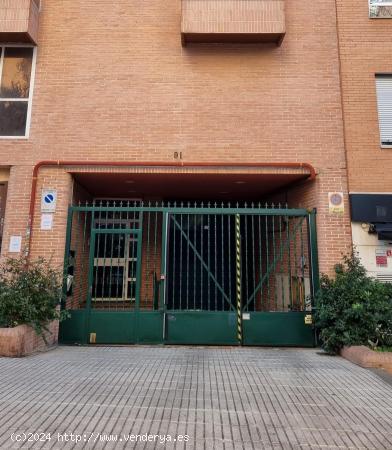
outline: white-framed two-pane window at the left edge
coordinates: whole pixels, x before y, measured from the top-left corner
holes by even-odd
[[[28,137],[34,65],[34,47],[0,46],[0,138]]]

